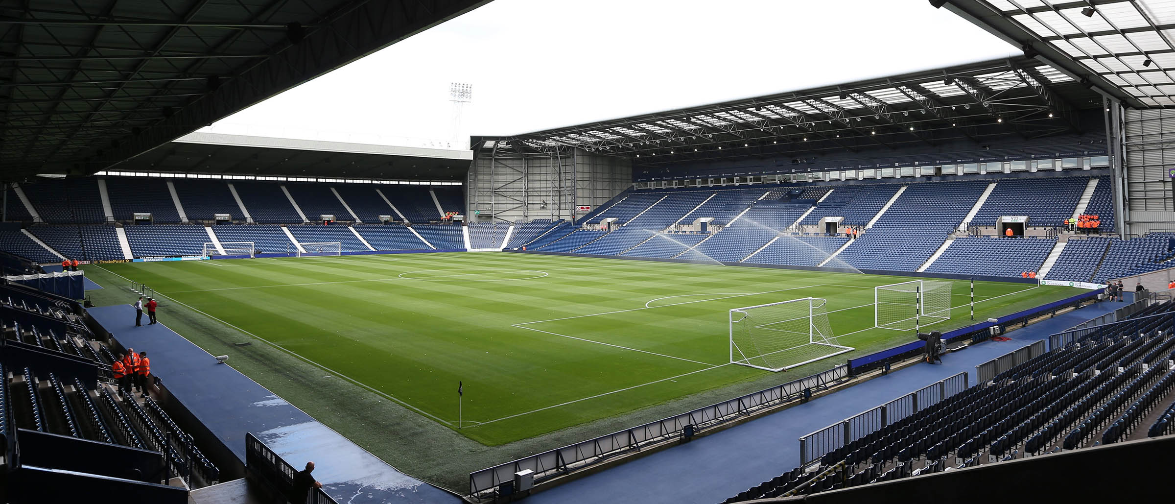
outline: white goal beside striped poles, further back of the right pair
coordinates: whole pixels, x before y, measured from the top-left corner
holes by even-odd
[[[874,327],[911,330],[951,318],[951,282],[914,280],[873,289]]]

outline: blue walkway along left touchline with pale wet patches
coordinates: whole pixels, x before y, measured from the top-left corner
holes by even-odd
[[[461,502],[397,471],[231,367],[216,363],[164,324],[134,327],[130,305],[89,313],[125,347],[148,350],[152,374],[242,462],[244,434],[253,432],[295,468],[314,461],[314,476],[341,503]]]

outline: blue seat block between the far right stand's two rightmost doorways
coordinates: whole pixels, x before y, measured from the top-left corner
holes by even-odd
[[[986,188],[981,181],[911,184],[837,258],[861,269],[916,270],[962,222]],[[835,195],[833,191],[830,197]]]

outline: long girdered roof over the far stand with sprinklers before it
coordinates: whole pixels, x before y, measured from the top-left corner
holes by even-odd
[[[475,136],[472,146],[483,152],[576,147],[642,157],[642,164],[934,146],[1080,132],[1077,110],[1100,108],[1101,100],[1065,73],[1012,58],[517,136]]]

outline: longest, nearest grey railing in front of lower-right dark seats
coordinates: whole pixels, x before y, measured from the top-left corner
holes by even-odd
[[[967,390],[967,372],[947,377],[880,406],[800,437],[800,465]]]

